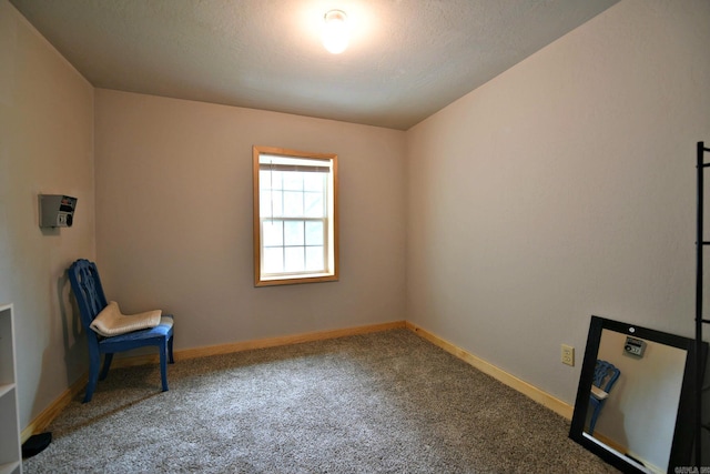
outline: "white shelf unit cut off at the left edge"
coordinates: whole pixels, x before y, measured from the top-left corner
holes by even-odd
[[[12,304],[0,304],[0,474],[22,473]]]

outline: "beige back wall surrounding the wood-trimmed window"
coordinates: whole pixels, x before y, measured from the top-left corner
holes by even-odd
[[[404,320],[402,131],[97,90],[97,259],[176,349]],[[336,153],[341,280],[254,288],[252,145]]]

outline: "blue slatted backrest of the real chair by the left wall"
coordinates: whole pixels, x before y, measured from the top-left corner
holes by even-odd
[[[91,322],[109,304],[103,294],[97,264],[85,259],[77,260],[69,268],[69,281],[79,304],[81,323],[89,334],[93,334],[89,327]]]

